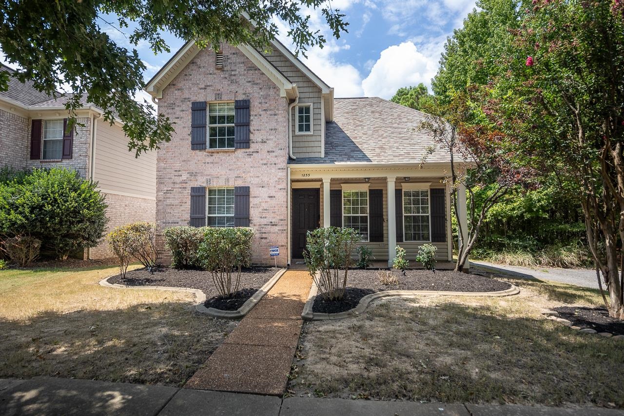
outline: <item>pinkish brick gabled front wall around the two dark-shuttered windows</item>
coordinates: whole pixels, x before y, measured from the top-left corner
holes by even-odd
[[[285,265],[288,105],[278,87],[235,47],[223,46],[223,62],[217,70],[214,51],[198,52],[158,103],[158,111],[177,124],[172,140],[157,153],[157,224],[188,225],[191,187],[249,186],[250,227],[256,230],[252,262],[273,264],[269,247],[278,245],[278,265]],[[251,103],[250,149],[192,151],[191,103],[238,99]]]

